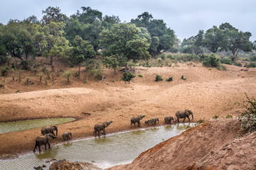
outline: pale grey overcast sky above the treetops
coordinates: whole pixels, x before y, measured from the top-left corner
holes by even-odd
[[[32,15],[40,20],[48,6],[58,6],[66,16],[81,6],[90,6],[103,16],[119,16],[122,22],[147,11],[155,19],[163,19],[180,40],[228,22],[243,32],[249,31],[250,40],[256,40],[256,0],[0,0],[0,23]]]

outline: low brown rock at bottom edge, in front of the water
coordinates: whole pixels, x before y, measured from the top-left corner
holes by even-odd
[[[62,159],[57,162],[53,162],[53,164],[50,165],[50,170],[68,170],[68,169],[74,169],[74,170],[100,170],[97,166],[90,163],[83,163],[83,162],[70,162],[67,159]]]

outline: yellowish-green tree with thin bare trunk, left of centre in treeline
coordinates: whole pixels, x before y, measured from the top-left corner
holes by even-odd
[[[38,24],[33,25],[35,32],[33,39],[37,43],[41,55],[46,58],[50,57],[52,72],[54,72],[53,57],[65,56],[65,52],[69,48],[68,40],[63,37],[64,27],[65,23],[55,23],[53,21],[50,21],[50,23],[45,26]]]

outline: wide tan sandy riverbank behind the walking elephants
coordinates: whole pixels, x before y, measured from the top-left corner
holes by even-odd
[[[56,79],[54,85],[24,86],[21,82],[5,79],[5,89],[0,94],[0,122],[38,118],[77,118],[75,122],[58,125],[58,137],[51,145],[61,143],[63,132],[73,133],[73,139],[93,136],[96,123],[112,120],[108,132],[134,130],[130,119],[134,115],[146,115],[142,120],[157,117],[164,124],[166,115],[186,108],[194,113],[194,122],[210,120],[213,116],[225,118],[240,115],[243,108],[234,105],[248,96],[256,96],[256,69],[241,70],[227,66],[228,71],[208,69],[201,64],[180,64],[180,67],[138,67],[137,77],[130,84],[119,81],[122,73],[106,70],[107,79],[88,79],[87,84],[73,79],[63,84]],[[141,74],[143,77],[138,77]],[[154,81],[156,74],[164,79],[172,76],[174,81]],[[181,75],[186,80],[181,79]],[[10,81],[9,81],[10,79]],[[114,81],[113,81],[114,79]],[[36,80],[35,80],[36,81]],[[38,84],[38,82],[36,82]],[[21,89],[17,94],[16,89]],[[90,114],[85,114],[90,113]],[[188,121],[188,120],[186,120]],[[1,134],[0,159],[9,159],[32,152],[41,128]]]

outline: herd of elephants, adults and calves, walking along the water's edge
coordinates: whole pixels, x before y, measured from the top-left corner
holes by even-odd
[[[171,121],[173,122],[173,124],[175,124],[177,121],[179,123],[179,119],[181,119],[181,118],[183,118],[183,122],[185,121],[186,118],[188,118],[188,121],[190,122],[189,115],[192,116],[192,120],[193,120],[192,111],[190,111],[188,109],[186,109],[185,111],[177,111],[175,114],[175,118],[172,116],[164,117],[164,124],[171,124]],[[142,120],[142,118],[144,118],[144,117],[145,117],[145,115],[137,115],[137,116],[132,117],[131,118],[131,127],[132,127],[132,124],[134,124],[134,127],[136,127],[136,125],[135,125],[136,123],[140,127],[140,125],[141,125],[140,120]],[[159,118],[151,118],[150,120],[145,120],[145,125],[156,125],[156,122],[159,123]],[[103,131],[102,134],[106,135],[105,128],[107,128],[111,123],[113,123],[113,121],[97,123],[93,130],[93,134],[95,135],[95,137],[97,135],[100,136],[100,131]],[[54,131],[56,131],[56,135],[55,135]],[[46,126],[41,129],[41,133],[43,136],[36,137],[36,144],[33,149],[33,152],[36,151],[37,147],[39,148],[39,152],[40,152],[41,145],[45,145],[45,149],[46,149],[46,145],[48,145],[48,148],[50,148],[49,140],[57,137],[58,128],[56,125]],[[64,132],[62,141],[70,140],[70,139],[72,139],[71,132]]]

